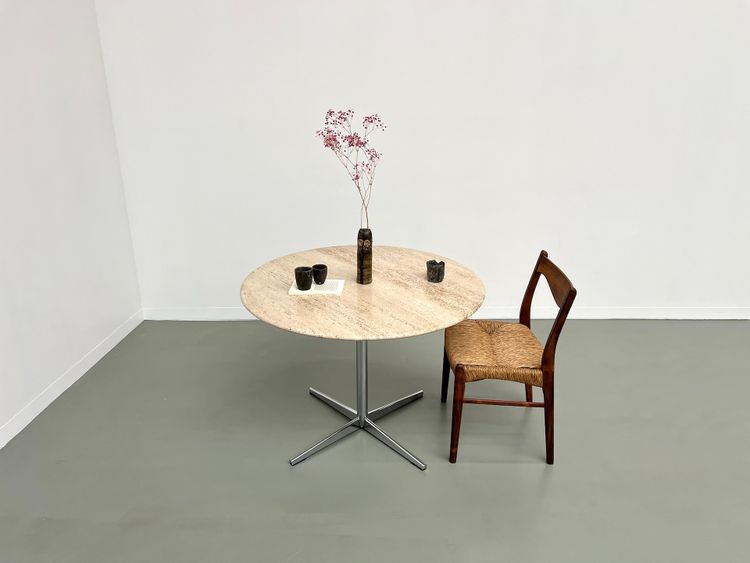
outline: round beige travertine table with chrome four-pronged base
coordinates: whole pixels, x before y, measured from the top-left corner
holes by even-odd
[[[427,281],[425,262],[445,261],[442,283]],[[341,295],[289,295],[296,266],[328,265],[329,279],[345,280]],[[375,421],[423,395],[417,391],[368,410],[367,342],[426,334],[470,317],[484,300],[484,285],[468,268],[448,258],[393,246],[375,246],[372,283],[356,281],[355,246],[306,250],[272,260],[245,278],[242,303],[273,326],[321,338],[356,341],[357,407],[310,388],[310,394],[347,417],[341,428],[289,463],[297,463],[348,436],[365,430],[420,469],[426,465],[386,434]]]

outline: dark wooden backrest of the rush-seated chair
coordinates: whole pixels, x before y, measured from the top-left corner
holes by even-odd
[[[577,291],[568,279],[568,276],[547,257],[547,251],[542,250],[539,253],[536,266],[534,266],[534,271],[531,273],[531,279],[529,279],[529,285],[526,287],[526,293],[521,303],[519,322],[529,328],[531,328],[531,301],[534,298],[536,285],[539,283],[539,278],[542,275],[546,278],[547,284],[549,284],[549,288],[552,291],[552,297],[554,297],[555,303],[559,307],[557,317],[547,337],[547,343],[544,345],[544,353],[542,354],[542,372],[546,378],[548,374],[551,376],[554,373],[557,340],[560,338],[560,332],[565,324],[565,320],[568,318],[568,312],[573,305]]]

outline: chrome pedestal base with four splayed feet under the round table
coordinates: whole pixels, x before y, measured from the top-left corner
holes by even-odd
[[[343,403],[340,403],[336,399],[329,397],[325,393],[321,393],[317,389],[310,387],[310,394],[316,399],[320,399],[326,405],[331,407],[333,410],[349,418],[349,422],[344,424],[341,428],[333,432],[332,434],[323,438],[320,442],[306,449],[298,456],[293,457],[289,460],[292,465],[297,465],[299,462],[306,460],[313,454],[327,448],[331,444],[335,444],[342,438],[346,438],[349,434],[355,430],[364,430],[371,436],[374,436],[386,446],[391,448],[393,451],[403,456],[411,463],[416,465],[419,469],[424,471],[427,466],[409,450],[404,448],[401,444],[396,442],[388,434],[386,434],[382,428],[380,428],[375,421],[379,418],[384,417],[393,411],[400,409],[401,407],[413,403],[417,399],[421,399],[423,392],[417,391],[378,407],[376,409],[367,410],[367,341],[362,340],[357,342],[357,409],[353,409]]]

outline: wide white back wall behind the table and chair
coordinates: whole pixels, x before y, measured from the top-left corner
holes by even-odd
[[[389,124],[376,245],[473,267],[482,314],[547,248],[578,317],[750,317],[747,2],[97,7],[147,317],[245,317],[250,270],[354,241],[313,135],[350,106]]]

